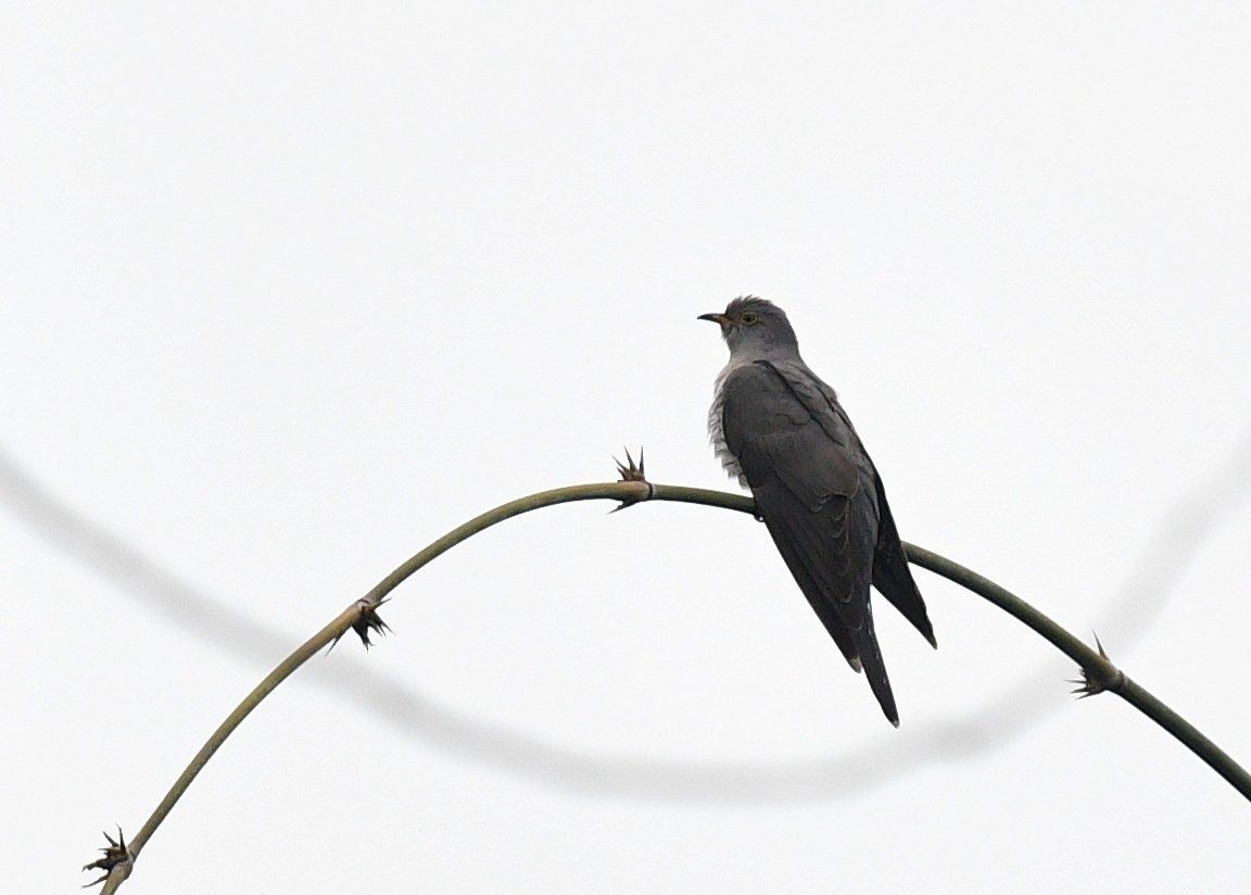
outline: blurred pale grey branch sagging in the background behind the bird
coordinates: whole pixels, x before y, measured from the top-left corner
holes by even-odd
[[[1228,457],[1170,504],[1130,580],[1096,623],[1127,650],[1156,621],[1203,541],[1251,493],[1251,431]],[[66,557],[108,580],[120,595],[186,636],[254,667],[269,667],[290,638],[179,578],[105,526],[51,493],[0,449],[0,503]],[[934,761],[973,759],[1021,736],[1048,715],[1060,682],[1050,671],[1022,676],[965,717],[917,724],[908,736],[814,761],[717,764],[592,755],[502,729],[370,668],[311,666],[305,680],[364,707],[398,732],[459,759],[489,765],[572,794],[653,801],[813,802],[846,797]]]

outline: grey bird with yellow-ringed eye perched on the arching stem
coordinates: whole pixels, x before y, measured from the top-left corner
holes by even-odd
[[[864,671],[896,727],[891,681],[873,632],[869,583],[937,648],[882,478],[834,389],[808,369],[786,312],[736,298],[721,324],[729,363],[717,377],[708,439],[756,498],[773,543],[847,662]]]

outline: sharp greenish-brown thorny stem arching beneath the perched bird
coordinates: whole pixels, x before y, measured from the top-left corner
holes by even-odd
[[[639,471],[642,472],[642,471]],[[108,877],[104,880],[103,895],[116,891],[116,889],[130,876],[134,861],[146,845],[148,840],[164,821],[174,805],[199,775],[204,765],[213,757],[213,754],[225,742],[226,737],[271,693],[279,683],[294,673],[304,662],[315,656],[320,650],[335,643],[349,630],[364,625],[374,627],[382,625],[377,618],[377,610],[385,602],[387,597],[409,576],[448,552],[458,543],[467,541],[474,534],[514,516],[552,507],[560,503],[573,503],[578,501],[619,501],[622,507],[629,507],[644,501],[673,501],[678,503],[699,503],[708,507],[733,509],[743,513],[756,512],[756,503],[751,497],[743,494],[731,494],[723,491],[708,491],[704,488],[688,488],[672,484],[652,484],[646,481],[605,482],[598,484],[574,484],[564,488],[553,488],[537,494],[510,501],[469,522],[453,528],[450,532],[433,542],[420,552],[402,563],[395,571],[378,582],[364,597],[339,613],[334,621],[322,628],[317,635],[305,641],[295,652],[283,660],[265,680],[248,693],[238,707],[225,721],[213,732],[208,742],[200,749],[191,762],[186,766],[179,779],[170,787],[156,810],[143,825],[129,846],[125,856],[110,867]],[[1096,652],[1082,643],[1077,637],[1053,622],[1038,610],[1026,603],[1020,597],[1013,596],[993,581],[965,568],[963,566],[947,560],[937,553],[904,543],[908,560],[922,568],[941,575],[945,578],[985,597],[990,602],[1002,608],[1008,615],[1023,622],[1026,626],[1040,633],[1055,645],[1061,652],[1076,661],[1086,678],[1085,693],[1102,692],[1110,690],[1161,727],[1172,734],[1187,749],[1207,762],[1217,774],[1225,777],[1243,797],[1251,800],[1251,776],[1237,765],[1216,744],[1203,736],[1185,719],[1173,712],[1143,687],[1131,681],[1120,668],[1112,665],[1102,652]],[[362,635],[363,638],[364,635]],[[368,645],[368,640],[365,638]]]

